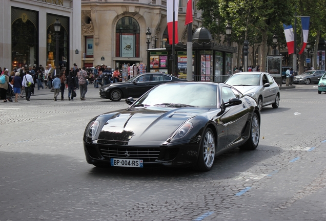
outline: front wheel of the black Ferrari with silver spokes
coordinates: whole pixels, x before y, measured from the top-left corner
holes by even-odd
[[[200,171],[211,170],[215,160],[215,151],[216,144],[214,133],[210,128],[207,128],[200,144],[196,168]]]

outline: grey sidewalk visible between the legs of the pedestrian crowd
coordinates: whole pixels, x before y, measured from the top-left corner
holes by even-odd
[[[80,99],[80,92],[79,90],[76,90],[77,97],[74,99]],[[25,97],[25,93],[24,93]],[[59,93],[57,99],[60,100],[61,98],[61,93]],[[65,90],[64,93],[64,98],[65,100],[68,100],[68,89]],[[22,98],[21,98],[22,99]],[[85,95],[85,99],[103,99],[99,97],[99,89],[94,88],[94,84],[89,84],[87,87],[87,93]],[[34,87],[34,95],[31,96],[31,100],[54,100],[54,92],[51,92],[51,89],[42,89],[42,87],[37,90],[37,84]]]

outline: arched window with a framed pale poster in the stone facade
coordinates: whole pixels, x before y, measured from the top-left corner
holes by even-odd
[[[123,17],[115,28],[115,56],[139,57],[139,25],[132,17]]]

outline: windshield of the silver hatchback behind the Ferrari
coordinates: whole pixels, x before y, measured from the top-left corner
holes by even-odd
[[[232,86],[257,86],[260,85],[260,74],[232,75],[225,83]]]

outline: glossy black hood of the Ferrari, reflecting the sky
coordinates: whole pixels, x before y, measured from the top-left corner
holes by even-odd
[[[183,122],[209,108],[150,107],[126,109],[97,117],[103,127],[98,139],[109,141],[166,141]]]

